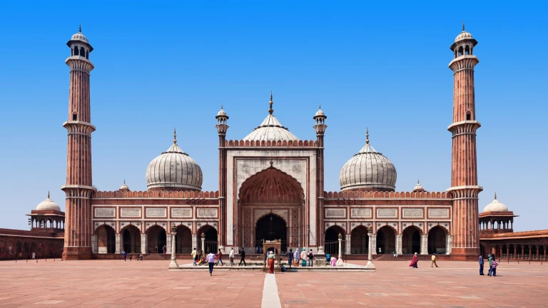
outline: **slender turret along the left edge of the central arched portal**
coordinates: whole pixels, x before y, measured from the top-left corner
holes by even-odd
[[[223,110],[223,105],[220,106],[220,111],[215,116],[217,119],[217,133],[219,134],[219,208],[220,208],[220,221],[219,221],[219,249],[223,250],[226,245],[226,235],[225,232],[233,232],[235,227],[233,225],[226,225],[226,150],[225,150],[225,140],[226,140],[226,131],[228,130],[228,125],[226,121],[228,116]],[[232,223],[232,222],[230,222]],[[229,230],[230,229],[230,230]]]

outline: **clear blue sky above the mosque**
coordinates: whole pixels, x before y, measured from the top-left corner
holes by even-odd
[[[328,116],[325,189],[365,143],[397,168],[397,190],[450,187],[452,59],[462,21],[475,54],[480,211],[494,192],[547,229],[547,7],[527,1],[2,1],[0,227],[27,230],[46,198],[64,210],[66,41],[82,24],[91,74],[93,183],[146,190],[148,163],[178,144],[217,190],[220,105],[228,139],[274,114],[301,139]],[[230,3],[229,3],[230,2]],[[540,2],[538,2],[540,3]]]

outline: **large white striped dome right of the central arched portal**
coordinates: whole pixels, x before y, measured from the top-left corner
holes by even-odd
[[[394,164],[378,153],[369,144],[367,137],[360,152],[350,158],[340,170],[340,189],[394,191],[396,177]]]

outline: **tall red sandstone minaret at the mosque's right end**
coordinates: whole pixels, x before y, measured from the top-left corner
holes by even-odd
[[[453,123],[451,188],[453,197],[451,255],[457,260],[477,259],[480,252],[477,185],[476,120],[474,98],[474,66],[480,61],[474,56],[477,41],[472,34],[462,32],[451,45],[455,58],[449,63],[453,71]]]

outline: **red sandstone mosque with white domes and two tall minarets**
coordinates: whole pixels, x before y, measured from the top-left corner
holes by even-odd
[[[396,191],[395,165],[373,148],[368,132],[365,145],[356,144],[356,153],[348,153],[340,170],[340,190],[325,191],[328,116],[321,108],[312,112],[315,138],[301,139],[275,116],[272,94],[264,120],[241,139],[226,138],[229,116],[222,106],[216,114],[217,191],[202,190],[200,165],[185,152],[192,149],[177,144],[175,132],[173,143],[163,152],[158,149],[160,155],[146,168],[146,191],[133,191],[125,182],[118,190],[98,191],[91,175],[91,134],[96,129],[90,120],[93,47],[80,29],[67,43],[71,52],[66,58],[68,118],[63,124],[68,130],[66,185],[61,188],[66,193],[63,258],[108,258],[121,250],[148,254],[164,245],[171,253],[167,244],[172,236],[177,254],[188,254],[193,247],[225,252],[235,247],[250,253],[263,240],[274,239],[281,240],[282,250],[305,247],[333,254],[342,237],[342,252],[360,256],[368,252],[367,227],[372,227],[375,255],[418,252],[477,260],[480,251],[516,254],[515,245],[512,250],[497,244],[502,243],[497,237],[507,240],[500,235],[512,233],[513,212],[496,198],[484,212],[478,210],[482,187],[477,181],[476,131],[481,125],[475,108],[476,45],[463,25],[450,46],[454,90],[447,130],[452,165],[446,191],[430,192],[420,183]],[[544,252],[545,258],[544,231],[534,241],[535,252]],[[486,244],[480,245],[480,237]]]

